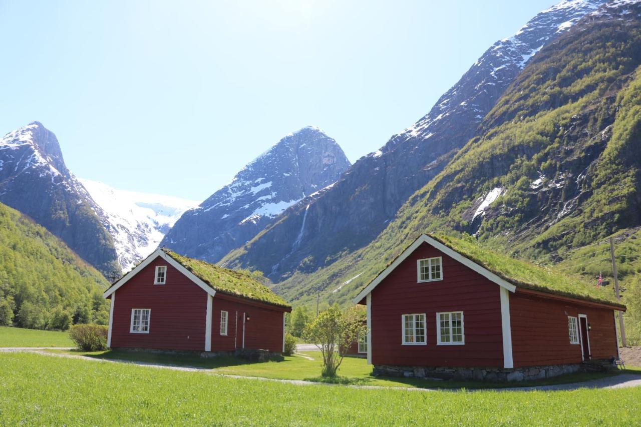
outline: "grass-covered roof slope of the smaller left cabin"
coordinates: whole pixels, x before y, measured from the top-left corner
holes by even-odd
[[[244,272],[224,269],[194,258],[178,255],[169,249],[163,251],[183,265],[216,292],[253,299],[263,303],[289,307],[287,301],[274,294],[271,289]]]

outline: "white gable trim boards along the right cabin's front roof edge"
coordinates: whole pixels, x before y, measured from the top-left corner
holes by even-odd
[[[481,274],[481,276],[484,276],[488,280],[493,281],[494,283],[496,283],[500,287],[502,287],[504,289],[507,289],[510,292],[515,292],[515,290],[517,289],[517,287],[512,285],[512,283],[508,283],[507,281],[503,280],[502,278],[500,278],[499,276],[497,276],[493,272],[489,271],[485,267],[481,267],[481,265],[476,264],[476,262],[470,260],[469,258],[465,258],[465,256],[463,256],[460,253],[454,251],[454,249],[451,249],[451,248],[445,246],[441,242],[438,242],[438,240],[432,239],[428,235],[422,234],[422,235],[420,235],[420,237],[418,239],[414,240],[414,242],[410,245],[410,247],[405,249],[403,251],[403,253],[401,253],[401,255],[399,255],[399,257],[396,258],[396,260],[394,260],[394,262],[392,262],[392,264],[390,264],[389,267],[387,267],[387,269],[385,269],[383,272],[381,272],[381,274],[376,276],[376,278],[374,280],[372,280],[369,283],[369,285],[367,285],[367,287],[365,289],[363,289],[360,292],[360,294],[358,294],[358,296],[356,296],[352,300],[354,302],[354,304],[358,304],[360,301],[362,301],[362,299],[365,296],[367,296],[367,294],[372,292],[372,290],[374,290],[374,288],[377,287],[378,284],[381,283],[381,281],[383,281],[383,279],[385,279],[392,271],[394,271],[394,269],[396,269],[396,267],[398,267],[401,264],[401,262],[406,260],[406,258],[408,256],[412,255],[413,251],[418,249],[418,247],[423,243],[427,243],[430,246],[435,247],[436,249],[438,249],[439,251],[441,251],[445,255],[449,256],[450,258],[453,258],[454,260],[456,260],[456,261],[460,262],[461,264],[465,265],[465,267],[468,267],[469,269],[472,269],[472,270],[478,272],[479,274]]]

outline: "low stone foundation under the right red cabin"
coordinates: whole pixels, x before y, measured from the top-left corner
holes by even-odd
[[[460,381],[529,381],[552,378],[553,376],[578,371],[608,371],[613,369],[610,360],[595,360],[581,364],[528,366],[506,368],[453,368],[428,366],[374,365],[373,374],[383,376],[402,376],[405,378],[425,378],[429,380]],[[614,367],[615,368],[615,367]]]

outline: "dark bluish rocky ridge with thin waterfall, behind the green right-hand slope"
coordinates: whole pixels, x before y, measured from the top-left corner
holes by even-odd
[[[408,197],[478,133],[483,117],[531,58],[602,3],[562,1],[496,42],[428,115],[354,163],[332,188],[292,206],[223,262],[260,269],[278,282],[369,244]]]

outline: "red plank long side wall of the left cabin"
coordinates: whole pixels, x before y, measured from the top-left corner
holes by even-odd
[[[221,335],[221,311],[228,312],[227,335]],[[213,297],[212,351],[231,351],[242,347],[242,315],[245,322],[245,348],[283,351],[283,310],[245,304],[220,292]],[[237,332],[236,332],[237,331]]]

